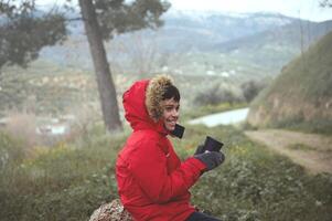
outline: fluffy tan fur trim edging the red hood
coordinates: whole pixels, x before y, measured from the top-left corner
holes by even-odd
[[[165,87],[173,85],[173,81],[168,75],[157,75],[150,80],[146,92],[146,107],[149,116],[158,122],[162,117],[163,107],[161,105],[162,95]]]

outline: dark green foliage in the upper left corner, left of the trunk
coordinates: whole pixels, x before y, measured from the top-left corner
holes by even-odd
[[[26,66],[35,60],[45,45],[54,45],[65,39],[65,19],[60,13],[38,14],[34,1],[18,4],[1,1],[3,15],[0,25],[0,69],[4,64]]]

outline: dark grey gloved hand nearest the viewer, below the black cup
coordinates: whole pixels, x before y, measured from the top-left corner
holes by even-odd
[[[206,151],[203,154],[194,155],[194,158],[201,160],[206,166],[206,171],[212,170],[223,164],[225,155],[217,151]]]

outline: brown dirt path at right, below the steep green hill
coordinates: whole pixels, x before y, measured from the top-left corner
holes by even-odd
[[[312,173],[332,173],[331,136],[282,129],[255,130],[246,131],[245,134],[251,140],[288,156],[296,164],[303,166]]]

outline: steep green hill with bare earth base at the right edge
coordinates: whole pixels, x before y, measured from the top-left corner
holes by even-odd
[[[248,123],[332,133],[332,32],[282,69],[251,104]]]

